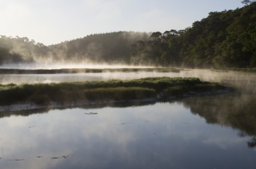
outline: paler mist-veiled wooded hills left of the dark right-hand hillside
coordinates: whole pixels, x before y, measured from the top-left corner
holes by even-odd
[[[119,31],[88,35],[84,38],[45,46],[29,38],[0,38],[0,65],[4,63],[126,63],[130,45],[148,41],[150,33]]]

